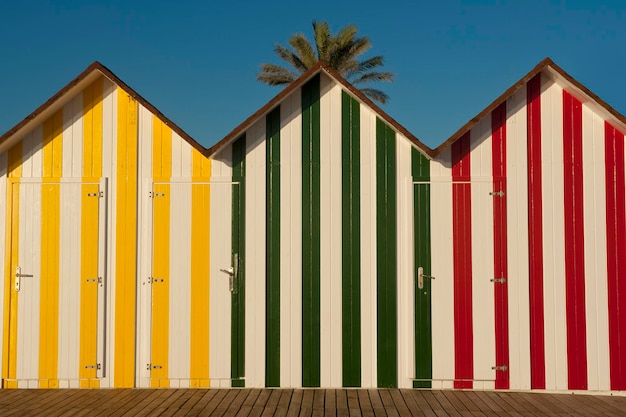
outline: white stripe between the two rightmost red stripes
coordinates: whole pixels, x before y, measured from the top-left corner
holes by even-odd
[[[611,388],[606,254],[604,120],[583,106],[585,312],[589,390]]]

